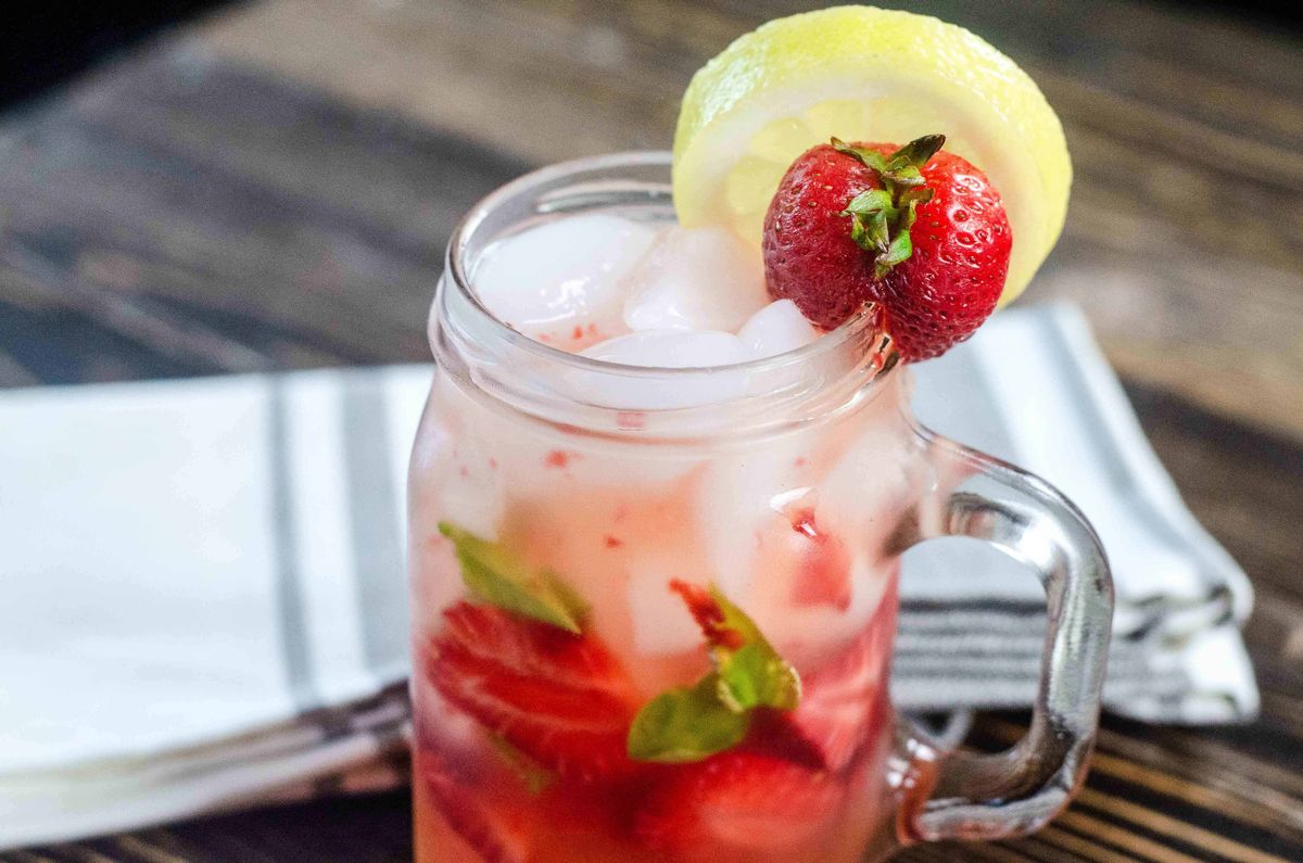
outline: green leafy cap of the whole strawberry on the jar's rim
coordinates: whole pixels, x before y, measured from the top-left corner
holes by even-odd
[[[945,142],[943,134],[925,134],[883,155],[840,138],[831,139],[834,150],[859,159],[882,184],[881,189],[856,194],[840,212],[851,216],[851,239],[873,256],[873,272],[878,279],[913,254],[909,228],[913,227],[915,209],[933,196],[933,189],[924,183],[921,168]]]

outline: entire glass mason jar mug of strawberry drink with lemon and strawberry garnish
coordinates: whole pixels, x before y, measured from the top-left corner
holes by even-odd
[[[907,365],[1022,291],[1070,175],[1007,57],[844,7],[704,66],[672,163],[552,166],[470,210],[409,482],[418,863],[852,863],[1053,817],[1108,563],[1044,481],[915,424]],[[890,707],[900,555],[937,537],[1049,598],[998,756]]]

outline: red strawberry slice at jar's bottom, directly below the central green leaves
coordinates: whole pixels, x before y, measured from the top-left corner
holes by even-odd
[[[648,798],[635,834],[675,860],[816,860],[837,829],[846,786],[826,770],[749,751],[675,768]]]

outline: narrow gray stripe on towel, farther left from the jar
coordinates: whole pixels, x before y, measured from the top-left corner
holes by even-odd
[[[267,378],[267,451],[271,475],[271,510],[276,553],[276,609],[280,613],[280,651],[291,697],[300,710],[322,703],[308,656],[308,624],[304,618],[302,567],[294,542],[294,512],[291,491],[285,417],[285,378]]]

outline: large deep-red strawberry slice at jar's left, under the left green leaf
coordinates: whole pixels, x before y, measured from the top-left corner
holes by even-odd
[[[452,705],[563,776],[598,781],[638,769],[625,753],[633,686],[597,636],[469,602],[444,619],[426,675]]]

